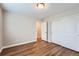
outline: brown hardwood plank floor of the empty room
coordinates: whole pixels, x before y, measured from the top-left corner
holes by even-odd
[[[79,52],[46,41],[4,49],[2,56],[79,56]]]

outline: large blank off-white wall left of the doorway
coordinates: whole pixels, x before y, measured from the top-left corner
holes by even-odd
[[[35,19],[25,15],[4,14],[3,46],[35,41]]]

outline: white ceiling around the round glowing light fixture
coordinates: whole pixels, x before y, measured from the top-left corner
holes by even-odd
[[[3,3],[2,8],[7,12],[24,14],[36,18],[39,17],[41,19],[62,13],[63,11],[79,10],[78,3],[47,3],[47,5],[48,7],[46,9],[37,9],[34,7],[34,3]]]

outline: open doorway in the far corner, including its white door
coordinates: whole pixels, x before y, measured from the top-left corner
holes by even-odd
[[[36,22],[36,40],[48,42],[48,22],[38,20]]]

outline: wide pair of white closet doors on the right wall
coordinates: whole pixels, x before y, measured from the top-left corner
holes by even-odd
[[[52,42],[67,48],[75,48],[75,19],[72,16],[52,21]]]

